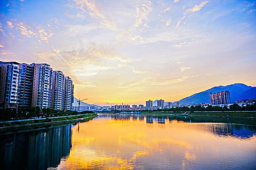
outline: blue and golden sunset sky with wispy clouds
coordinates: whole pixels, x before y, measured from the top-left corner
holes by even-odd
[[[0,60],[47,63],[91,104],[256,86],[256,0],[1,0]]]

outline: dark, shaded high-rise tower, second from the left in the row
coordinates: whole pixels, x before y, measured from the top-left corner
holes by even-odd
[[[32,105],[32,87],[34,80],[34,67],[25,63],[20,66],[20,84],[18,103],[21,108],[29,108]]]

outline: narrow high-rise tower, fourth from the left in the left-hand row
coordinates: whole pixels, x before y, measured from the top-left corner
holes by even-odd
[[[51,108],[62,110],[64,106],[64,74],[62,71],[53,71]]]

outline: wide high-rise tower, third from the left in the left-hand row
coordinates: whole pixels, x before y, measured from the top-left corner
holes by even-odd
[[[48,64],[35,64],[32,106],[51,108],[53,69]]]

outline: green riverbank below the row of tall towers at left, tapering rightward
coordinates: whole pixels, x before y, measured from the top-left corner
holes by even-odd
[[[48,118],[48,119],[38,119],[38,120],[26,120],[19,122],[3,122],[0,123],[0,134],[8,132],[17,132],[20,130],[27,129],[39,129],[43,127],[59,126],[63,124],[70,124],[79,121],[86,121],[97,117],[97,114],[87,114],[78,116],[67,116],[61,118]]]

